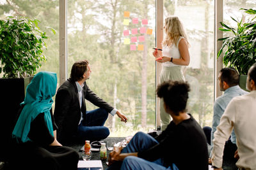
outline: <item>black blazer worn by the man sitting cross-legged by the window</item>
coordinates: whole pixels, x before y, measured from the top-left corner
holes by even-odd
[[[72,137],[76,135],[77,127],[81,119],[81,112],[83,113],[84,120],[86,119],[86,103],[84,102],[84,99],[108,112],[111,112],[114,109],[90,90],[85,81],[82,94],[83,100],[80,108],[76,81],[73,81],[70,78],[65,81],[57,91],[54,120],[58,126],[57,139],[60,143],[68,143]]]

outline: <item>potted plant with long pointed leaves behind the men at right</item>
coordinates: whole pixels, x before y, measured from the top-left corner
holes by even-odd
[[[244,10],[245,13],[252,15],[248,22],[243,22],[243,19],[234,20],[237,23],[237,28],[230,27],[223,22],[221,31],[232,32],[232,36],[220,38],[218,41],[223,41],[218,57],[223,53],[223,64],[227,67],[234,67],[240,74],[240,87],[246,89],[246,74],[248,69],[256,62],[256,10]]]

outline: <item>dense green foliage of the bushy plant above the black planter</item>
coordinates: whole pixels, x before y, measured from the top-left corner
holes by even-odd
[[[38,22],[24,17],[0,20],[0,73],[4,78],[33,76],[46,60],[43,48],[48,37]]]

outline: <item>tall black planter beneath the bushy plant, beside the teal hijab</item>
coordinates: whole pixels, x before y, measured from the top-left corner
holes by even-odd
[[[31,78],[0,78],[0,161],[8,160],[10,139],[17,121],[20,103],[24,101],[26,87]],[[13,153],[11,153],[13,154]]]

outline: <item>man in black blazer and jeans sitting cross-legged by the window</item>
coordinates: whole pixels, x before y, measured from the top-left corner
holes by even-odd
[[[74,139],[84,142],[84,140],[99,141],[107,138],[109,129],[104,127],[104,123],[108,113],[113,116],[118,115],[123,122],[127,121],[125,115],[100,99],[86,85],[91,72],[88,60],[75,62],[70,78],[58,89],[54,120],[58,125],[57,139],[60,143],[70,143]],[[99,109],[86,111],[84,99],[98,106]]]

